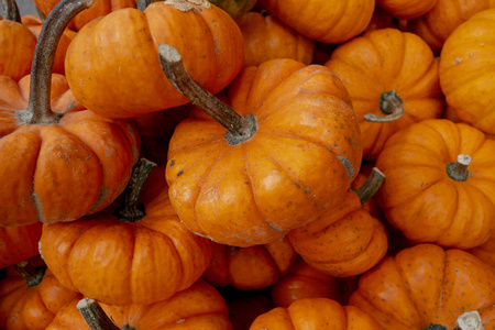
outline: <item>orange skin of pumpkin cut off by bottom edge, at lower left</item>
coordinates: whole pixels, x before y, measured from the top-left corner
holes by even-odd
[[[77,300],[62,308],[46,330],[89,330],[76,304]],[[226,301],[215,287],[202,279],[155,304],[100,305],[119,328],[128,324],[135,330],[232,330]]]

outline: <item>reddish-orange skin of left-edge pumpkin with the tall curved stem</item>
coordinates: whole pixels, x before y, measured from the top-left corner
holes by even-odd
[[[19,124],[15,111],[28,108],[29,77],[16,84],[0,76],[0,160],[9,160],[0,167],[1,226],[97,212],[123,191],[138,160],[140,136],[130,121],[70,111],[79,106],[66,94],[65,78],[53,77],[54,110],[69,112],[57,124]]]

